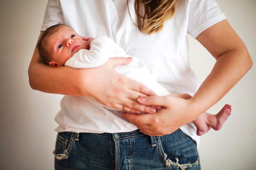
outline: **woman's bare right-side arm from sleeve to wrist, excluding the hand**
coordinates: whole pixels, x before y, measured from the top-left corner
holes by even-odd
[[[218,102],[252,67],[243,41],[223,20],[208,28],[197,40],[216,58],[216,63],[198,91],[190,99],[200,114]]]

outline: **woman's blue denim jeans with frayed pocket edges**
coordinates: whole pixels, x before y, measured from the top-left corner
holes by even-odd
[[[200,170],[196,144],[180,129],[161,137],[61,132],[54,154],[55,170]]]

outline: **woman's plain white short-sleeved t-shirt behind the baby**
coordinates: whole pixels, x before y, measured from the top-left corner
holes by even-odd
[[[61,22],[85,37],[110,37],[127,54],[157,70],[157,81],[168,92],[193,96],[199,83],[189,65],[186,35],[196,38],[224,20],[218,4],[214,0],[180,0],[174,17],[165,23],[161,32],[151,35],[141,33],[134,24],[137,21],[134,0],[129,0],[128,5],[129,10],[126,0],[49,0],[41,31]],[[120,111],[86,103],[88,100],[84,97],[64,96],[61,111],[55,118],[59,124],[56,131],[119,133],[137,129],[121,117]],[[192,122],[180,129],[198,144]]]

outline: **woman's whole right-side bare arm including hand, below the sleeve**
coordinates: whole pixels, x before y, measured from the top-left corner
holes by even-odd
[[[166,135],[192,122],[234,87],[252,67],[252,59],[243,41],[223,20],[207,28],[197,40],[213,55],[216,63],[195,95],[185,100],[179,95],[139,98],[145,105],[160,105],[153,114],[122,116],[148,135]]]

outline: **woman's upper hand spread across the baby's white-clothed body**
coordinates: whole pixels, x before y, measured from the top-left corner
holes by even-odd
[[[132,57],[110,58],[104,65],[97,68],[82,69],[85,71],[83,83],[89,96],[93,96],[99,102],[117,110],[130,113],[139,111],[153,113],[154,107],[141,105],[138,97],[155,96],[156,94],[145,85],[134,81],[116,72],[118,65],[126,65],[132,61]],[[83,86],[81,86],[83,88]]]

